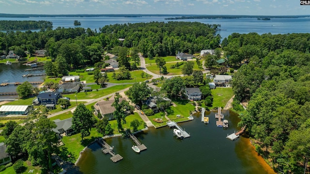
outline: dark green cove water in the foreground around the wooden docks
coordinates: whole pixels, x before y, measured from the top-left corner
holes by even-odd
[[[225,119],[230,122],[227,130],[216,127],[215,112],[207,112],[210,123],[201,122],[200,116],[193,121],[180,125],[190,133],[184,140],[173,136],[168,127],[140,133],[138,139],[147,146],[147,150],[135,153],[131,139],[115,137],[107,139],[114,145],[114,152],[124,159],[114,163],[109,154],[103,154],[98,144],[90,145],[78,163],[84,174],[273,174],[273,170],[257,156],[254,147],[247,138],[231,141],[227,134],[238,130],[239,121],[236,114],[223,111]]]

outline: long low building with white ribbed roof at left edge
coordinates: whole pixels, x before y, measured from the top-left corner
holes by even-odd
[[[32,110],[32,105],[2,105],[0,116],[27,116]]]

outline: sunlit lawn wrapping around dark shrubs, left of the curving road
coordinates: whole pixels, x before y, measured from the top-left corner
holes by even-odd
[[[113,79],[112,75],[113,72],[108,72],[109,77],[109,83],[135,83],[135,82],[142,82],[145,80],[148,80],[152,78],[151,75],[148,75],[148,78],[146,78],[146,73],[144,73],[144,77],[141,77],[142,70],[132,71],[131,73],[131,79],[130,80],[115,80]]]

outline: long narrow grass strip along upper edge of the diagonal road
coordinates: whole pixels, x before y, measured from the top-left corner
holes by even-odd
[[[79,92],[79,93],[74,93],[74,94],[63,94],[63,97],[69,97],[71,100],[75,99],[75,95],[77,96],[78,100],[83,100],[83,99],[96,99],[105,95],[112,94],[114,92],[117,92],[119,90],[125,89],[127,87],[131,87],[132,84],[129,85],[116,85],[113,87],[108,87],[104,88],[102,90],[94,90],[92,92]]]

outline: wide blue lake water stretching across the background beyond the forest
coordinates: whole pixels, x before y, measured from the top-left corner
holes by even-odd
[[[53,22],[53,29],[64,28],[90,28],[98,29],[106,25],[139,23],[139,22],[168,22],[165,20],[170,16],[143,16],[143,17],[30,17],[30,18],[6,18],[0,17],[0,20],[46,20]],[[81,22],[80,26],[74,26],[74,20]],[[236,18],[236,19],[182,19],[172,21],[201,22],[204,24],[219,24],[221,31],[218,33],[222,38],[230,34],[257,32],[258,34],[287,34],[287,33],[307,33],[310,30],[310,18],[271,18],[271,20],[257,20],[257,18]],[[224,30],[225,29],[225,30]],[[33,30],[38,31],[38,30]]]

